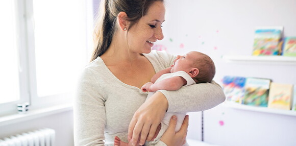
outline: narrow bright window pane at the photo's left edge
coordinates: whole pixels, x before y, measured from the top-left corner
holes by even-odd
[[[0,1],[0,104],[19,100],[18,53],[14,1]],[[4,41],[5,40],[5,41]],[[10,95],[10,98],[6,98]]]

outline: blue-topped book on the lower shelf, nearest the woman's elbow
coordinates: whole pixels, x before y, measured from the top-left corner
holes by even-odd
[[[227,101],[241,104],[244,95],[244,77],[225,76],[222,80]]]

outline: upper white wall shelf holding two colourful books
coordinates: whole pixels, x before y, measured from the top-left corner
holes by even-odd
[[[224,55],[222,56],[222,59],[228,62],[265,62],[265,63],[296,65],[296,57],[287,57],[287,56]]]

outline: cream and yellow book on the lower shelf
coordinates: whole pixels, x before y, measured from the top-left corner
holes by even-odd
[[[268,108],[290,110],[292,91],[292,84],[270,83]]]

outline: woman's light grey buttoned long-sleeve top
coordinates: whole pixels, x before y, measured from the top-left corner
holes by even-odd
[[[152,51],[143,54],[155,72],[169,67],[175,56]],[[160,90],[168,101],[167,112],[203,111],[225,101],[225,94],[214,81],[176,91]],[[128,141],[128,127],[147,93],[117,79],[98,57],[83,70],[74,106],[75,145],[113,145],[114,137]],[[105,141],[105,142],[104,142]],[[157,145],[165,145],[159,142]]]

